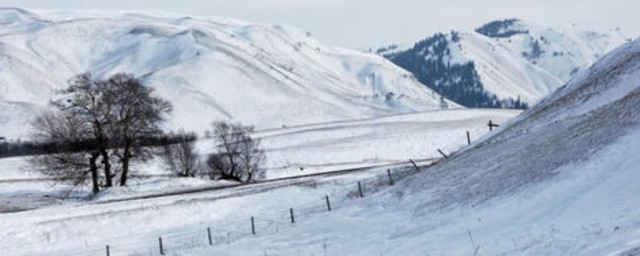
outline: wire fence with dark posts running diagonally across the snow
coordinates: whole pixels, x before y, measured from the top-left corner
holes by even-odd
[[[80,252],[56,253],[56,255],[176,255],[181,251],[194,248],[230,244],[257,236],[291,231],[296,228],[297,223],[308,222],[323,214],[329,214],[349,204],[349,201],[393,186],[397,181],[421,171],[413,161],[410,162],[412,166],[386,169],[379,175],[361,179],[351,186],[333,190],[331,193],[318,195],[316,199],[302,202],[289,209],[278,209],[256,216],[246,216],[246,218],[236,221],[225,221],[208,227],[203,226],[197,230],[165,234],[154,239],[155,241],[148,239],[148,237],[146,239],[131,239],[105,245],[102,248],[87,248]]]

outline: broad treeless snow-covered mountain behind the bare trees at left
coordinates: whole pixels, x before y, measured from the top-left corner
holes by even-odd
[[[0,136],[73,75],[130,72],[174,104],[169,128],[216,119],[259,128],[457,107],[373,54],[296,28],[165,13],[0,9]]]

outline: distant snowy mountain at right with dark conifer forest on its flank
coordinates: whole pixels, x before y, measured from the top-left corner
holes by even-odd
[[[628,40],[618,28],[551,28],[508,19],[378,53],[461,105],[524,108]]]

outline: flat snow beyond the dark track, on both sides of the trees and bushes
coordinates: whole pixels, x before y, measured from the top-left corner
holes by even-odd
[[[266,152],[268,179],[352,168],[433,162],[444,152],[466,146],[466,131],[476,140],[488,132],[486,123],[502,123],[520,113],[513,110],[446,110],[383,118],[321,123],[259,131]],[[202,139],[197,150],[204,159],[215,152],[214,141]],[[30,171],[25,158],[0,159],[0,212],[37,208],[64,201],[65,187],[50,186],[46,177]],[[168,177],[160,160],[134,166],[129,188],[103,192],[99,199],[211,188],[228,183]],[[302,169],[301,169],[302,168]]]

